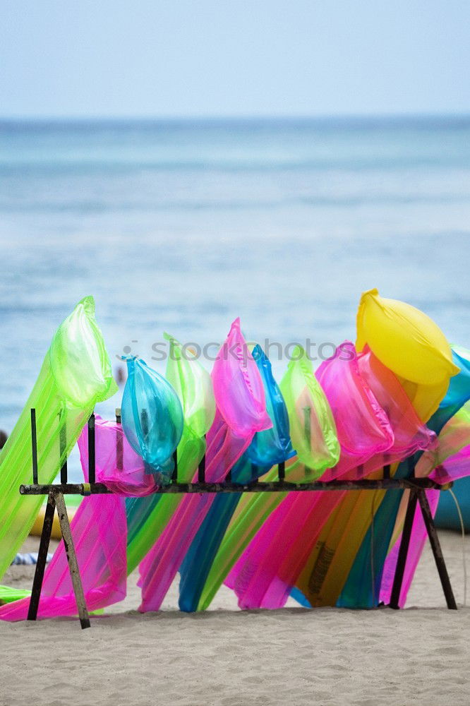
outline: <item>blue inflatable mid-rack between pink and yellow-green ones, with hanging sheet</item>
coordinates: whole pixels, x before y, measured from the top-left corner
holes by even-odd
[[[263,381],[267,412],[272,428],[257,431],[241,459],[231,470],[234,483],[248,483],[270,470],[272,465],[294,456],[289,437],[289,418],[279,387],[272,376],[270,361],[260,346],[253,349]],[[225,531],[241,498],[240,494],[215,498],[200,526],[183,563],[179,582],[179,606],[183,611],[198,609],[207,575],[219,549]]]

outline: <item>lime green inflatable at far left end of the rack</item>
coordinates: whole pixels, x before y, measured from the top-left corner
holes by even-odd
[[[42,496],[20,496],[32,482],[30,409],[36,409],[40,483],[52,483],[97,402],[117,390],[92,297],[59,326],[23,412],[0,452],[0,577],[23,544]]]

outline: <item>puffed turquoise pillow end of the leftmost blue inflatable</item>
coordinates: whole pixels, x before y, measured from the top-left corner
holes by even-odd
[[[165,484],[173,472],[172,455],[183,433],[183,409],[175,390],[142,359],[127,359],[122,428],[133,450],[143,457],[147,473]]]

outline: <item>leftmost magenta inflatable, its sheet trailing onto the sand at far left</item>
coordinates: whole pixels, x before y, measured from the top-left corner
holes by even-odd
[[[122,441],[122,470],[117,468],[120,460],[116,462],[116,453],[121,454],[119,440]],[[84,427],[78,438],[78,448],[83,474],[88,480],[88,426]],[[132,479],[133,484],[138,484],[139,479],[144,477],[143,460],[128,444],[120,424],[96,417],[95,453],[97,482],[106,484],[110,490],[119,492],[114,486],[116,481],[110,480],[112,478],[122,475]],[[127,522],[124,499],[116,495],[92,495],[83,498],[71,521],[71,532],[88,610],[105,608],[123,600],[126,597],[127,574]],[[29,598],[26,598],[2,606],[0,618],[11,621],[25,620],[29,602]],[[54,618],[76,613],[64,542],[61,542],[44,573],[37,615],[39,618]]]

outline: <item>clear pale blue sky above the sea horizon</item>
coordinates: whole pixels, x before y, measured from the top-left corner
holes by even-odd
[[[469,0],[0,0],[0,116],[470,112]]]

